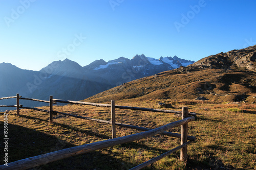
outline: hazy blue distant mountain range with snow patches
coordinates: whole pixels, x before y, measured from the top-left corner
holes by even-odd
[[[136,55],[133,59],[120,57],[109,62],[96,60],[87,66],[65,59],[54,61],[40,71],[20,69],[10,63],[0,64],[0,97],[14,96],[49,100],[83,100],[99,92],[123,83],[187,66],[194,61],[174,57],[160,59]],[[40,103],[21,101],[26,106],[40,106]],[[1,101],[0,105],[10,104]],[[32,104],[31,104],[32,103]]]

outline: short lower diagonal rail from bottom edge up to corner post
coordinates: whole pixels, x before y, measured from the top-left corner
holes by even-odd
[[[160,159],[162,159],[162,158],[164,158],[164,157],[174,153],[175,151],[178,151],[178,150],[186,147],[186,145],[188,145],[189,143],[190,143],[190,141],[188,141],[188,142],[186,142],[186,143],[184,143],[182,145],[179,145],[179,147],[176,147],[176,148],[174,148],[172,150],[169,150],[168,152],[165,152],[162,155],[159,155],[159,156],[157,156],[157,157],[155,157],[155,158],[153,158],[151,160],[148,160],[148,161],[146,161],[146,162],[144,162],[144,163],[142,163],[140,165],[137,165],[137,166],[135,166],[135,167],[133,167],[133,168],[131,168],[129,170],[139,170],[139,169],[142,169],[143,167],[146,167],[146,166],[148,166],[148,165],[150,165],[150,164],[152,164],[152,163],[154,163],[156,161],[159,161]]]

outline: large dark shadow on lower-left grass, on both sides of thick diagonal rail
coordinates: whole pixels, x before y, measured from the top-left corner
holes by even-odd
[[[0,122],[0,126],[3,127],[3,122]],[[4,133],[3,128],[0,133]],[[8,138],[8,163],[75,147],[74,144],[55,136],[13,124],[8,124]],[[3,142],[0,143],[0,147],[4,148]],[[102,150],[81,154],[30,169],[129,169],[136,166],[101,152]],[[3,156],[4,150],[1,150],[0,154]],[[1,160],[3,162],[3,157]]]

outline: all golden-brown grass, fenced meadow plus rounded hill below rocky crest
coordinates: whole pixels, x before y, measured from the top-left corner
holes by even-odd
[[[126,83],[86,101],[110,104],[110,100],[114,99],[117,105],[146,108],[158,108],[159,102],[170,103],[176,108],[188,106],[189,111],[197,112],[198,116],[195,122],[189,123],[188,133],[196,136],[197,141],[188,147],[187,169],[255,169],[256,108],[255,104],[251,104],[255,101],[255,81],[253,72],[181,68]],[[193,100],[197,96],[205,96],[210,100]],[[226,104],[243,98],[245,103]],[[67,105],[54,106],[54,110],[105,120],[111,118],[109,108]],[[48,125],[46,113],[22,110],[20,117],[14,115],[15,111],[8,114],[10,162],[109,139],[111,136],[110,125],[90,120],[54,115],[54,124]],[[147,128],[156,128],[180,119],[166,113],[119,109],[116,115],[117,122]],[[0,124],[3,127],[3,122]],[[180,132],[180,128],[170,131]],[[117,128],[117,136],[133,133],[138,131]],[[49,163],[40,168],[129,169],[179,144],[177,138],[158,135]],[[3,155],[3,150],[0,153]],[[185,164],[179,161],[179,152],[176,152],[146,169],[185,169]]]

